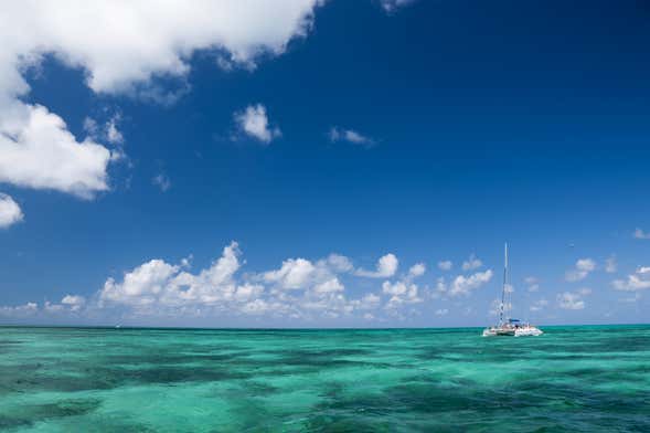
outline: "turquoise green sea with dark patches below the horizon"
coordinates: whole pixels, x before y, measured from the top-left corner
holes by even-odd
[[[9,432],[650,432],[650,326],[0,328]]]

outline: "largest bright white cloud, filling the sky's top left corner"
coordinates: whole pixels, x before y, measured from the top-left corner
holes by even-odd
[[[292,38],[307,34],[318,3],[25,0],[2,7],[3,51],[17,63],[25,61],[20,55],[34,62],[54,53],[85,68],[93,91],[127,92],[158,75],[187,75],[198,50],[221,50],[243,65],[254,65],[259,54],[279,55]]]

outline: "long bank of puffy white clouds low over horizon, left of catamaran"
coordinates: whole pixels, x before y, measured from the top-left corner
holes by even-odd
[[[385,257],[385,256],[384,256]],[[383,263],[388,263],[384,261]],[[425,266],[418,263],[397,282],[386,281],[380,293],[350,296],[342,276],[354,278],[351,261],[340,254],[324,258],[285,260],[278,268],[260,273],[242,273],[242,252],[232,242],[220,257],[207,267],[191,271],[190,261],[179,264],[162,258],[152,258],[127,271],[119,277],[109,277],[87,299],[68,294],[58,303],[2,307],[3,317],[93,318],[113,321],[122,319],[225,318],[256,316],[270,319],[283,318],[309,323],[315,319],[352,317],[375,318],[377,315],[401,315],[401,307],[422,303],[419,288],[412,282],[420,276]],[[382,261],[380,261],[382,263]],[[392,265],[377,266],[379,270]],[[396,265],[390,270],[396,271]],[[380,272],[380,271],[377,271]],[[384,308],[382,294],[386,295]],[[413,308],[409,313],[413,313]],[[32,316],[30,316],[32,317]]]

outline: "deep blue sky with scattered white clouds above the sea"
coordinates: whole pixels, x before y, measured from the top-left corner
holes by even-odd
[[[480,326],[505,241],[512,315],[648,320],[641,2],[61,4],[1,7],[1,323]]]

